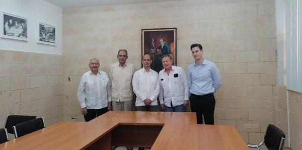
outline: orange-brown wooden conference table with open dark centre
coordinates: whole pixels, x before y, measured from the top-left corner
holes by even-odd
[[[59,122],[0,149],[248,149],[234,126],[197,125],[195,113],[109,111],[90,122]]]

